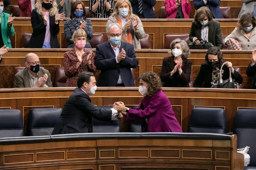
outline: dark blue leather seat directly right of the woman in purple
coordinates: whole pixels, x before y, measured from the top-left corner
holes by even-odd
[[[226,133],[226,114],[222,108],[193,108],[189,122],[190,133]]]

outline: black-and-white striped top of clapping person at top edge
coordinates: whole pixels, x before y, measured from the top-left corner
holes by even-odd
[[[89,1],[89,11],[92,13],[92,18],[109,18],[114,9],[114,0],[107,0],[109,2],[111,9],[107,11],[104,0],[101,0],[99,6],[95,12],[92,11],[92,6],[97,2],[97,0]]]

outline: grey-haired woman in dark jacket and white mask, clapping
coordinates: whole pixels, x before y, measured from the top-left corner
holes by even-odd
[[[192,62],[187,59],[190,51],[186,41],[173,40],[168,52],[172,56],[163,58],[161,81],[163,87],[189,87]]]

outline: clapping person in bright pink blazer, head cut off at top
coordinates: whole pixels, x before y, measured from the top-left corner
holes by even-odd
[[[192,8],[189,0],[165,0],[165,11],[167,18],[188,19]]]

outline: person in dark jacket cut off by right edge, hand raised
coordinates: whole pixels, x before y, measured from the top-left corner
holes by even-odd
[[[251,85],[251,89],[256,89],[256,49],[252,51],[251,63],[246,69],[248,77],[254,77]]]

